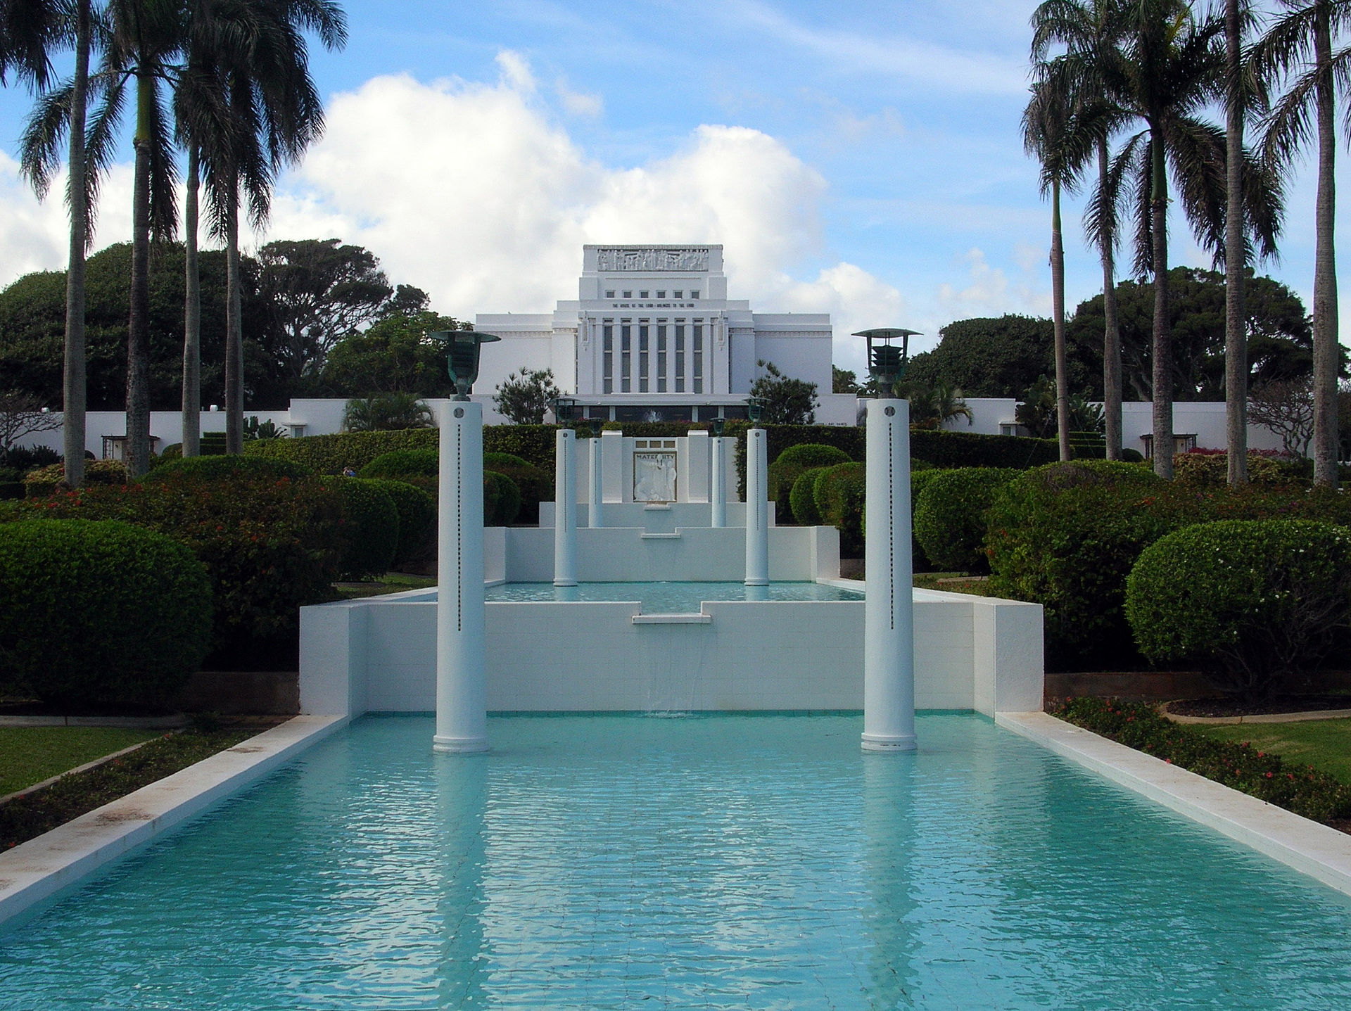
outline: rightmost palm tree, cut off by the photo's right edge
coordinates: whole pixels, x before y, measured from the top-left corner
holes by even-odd
[[[1337,274],[1333,249],[1336,220],[1333,112],[1337,88],[1346,89],[1351,49],[1333,50],[1332,39],[1351,24],[1346,0],[1282,0],[1288,14],[1254,46],[1259,74],[1290,81],[1266,123],[1269,159],[1288,165],[1315,137],[1319,188],[1315,203],[1313,253],[1313,481],[1337,487]]]

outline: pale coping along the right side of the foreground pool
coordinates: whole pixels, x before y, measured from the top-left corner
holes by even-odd
[[[1351,835],[1044,712],[994,722],[1286,866],[1351,895]]]

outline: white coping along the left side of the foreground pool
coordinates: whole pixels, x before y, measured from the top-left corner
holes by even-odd
[[[346,724],[346,716],[296,716],[0,853],[0,923],[82,884]]]

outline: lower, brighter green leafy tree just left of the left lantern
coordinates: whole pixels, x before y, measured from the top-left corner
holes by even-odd
[[[400,285],[404,291],[407,285]],[[416,289],[412,289],[416,291]],[[397,295],[396,295],[397,299]],[[426,295],[420,303],[426,304]],[[393,312],[362,334],[345,337],[328,353],[323,385],[345,396],[417,393],[447,397],[455,392],[446,370],[446,349],[427,334],[461,330],[465,324],[430,310]]]

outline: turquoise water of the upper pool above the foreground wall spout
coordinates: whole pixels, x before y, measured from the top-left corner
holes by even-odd
[[[489,587],[488,600],[639,600],[643,614],[697,614],[704,600],[862,600],[862,593],[820,583],[504,583]]]

